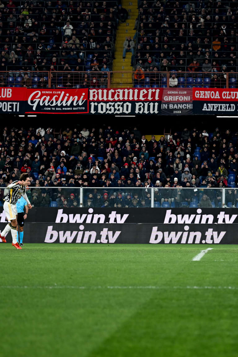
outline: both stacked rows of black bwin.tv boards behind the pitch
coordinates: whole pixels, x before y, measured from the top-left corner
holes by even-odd
[[[0,208],[0,230],[7,221]],[[238,209],[32,208],[25,243],[238,244]],[[11,241],[7,237],[7,241]]]

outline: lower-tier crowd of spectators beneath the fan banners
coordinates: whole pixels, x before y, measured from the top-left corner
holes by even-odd
[[[28,192],[36,206],[51,201],[79,206],[79,187],[88,187],[84,206],[141,206],[143,201],[145,207],[150,206],[151,190],[142,187],[153,188],[155,202],[163,206],[164,201],[208,201],[198,197],[201,190],[182,188],[238,187],[238,132],[216,128],[208,134],[194,127],[168,139],[152,135],[148,141],[136,127],[81,129],[66,128],[59,134],[51,127],[5,127],[0,132],[0,201],[4,187],[22,172],[30,175]],[[208,191],[218,206],[221,191]],[[234,204],[238,190],[231,191]]]

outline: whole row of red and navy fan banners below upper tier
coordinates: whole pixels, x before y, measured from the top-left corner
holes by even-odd
[[[0,88],[0,114],[237,115],[238,89]]]

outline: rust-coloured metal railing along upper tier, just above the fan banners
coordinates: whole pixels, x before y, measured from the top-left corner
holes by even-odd
[[[24,76],[27,74],[27,77]],[[172,80],[175,75],[175,81]],[[27,88],[238,88],[237,72],[0,71],[0,87]]]

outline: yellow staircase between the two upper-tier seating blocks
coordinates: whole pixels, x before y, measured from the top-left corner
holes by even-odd
[[[131,52],[127,52],[126,58],[122,59],[123,42],[126,40],[127,36],[135,35],[136,30],[134,29],[135,21],[138,16],[137,1],[134,2],[128,0],[122,0],[122,7],[128,11],[128,19],[125,24],[118,24],[118,30],[116,34],[115,43],[115,57],[113,60],[113,71],[132,71],[131,67]],[[113,73],[111,80],[112,88],[131,88],[132,76],[130,74],[123,73]]]

